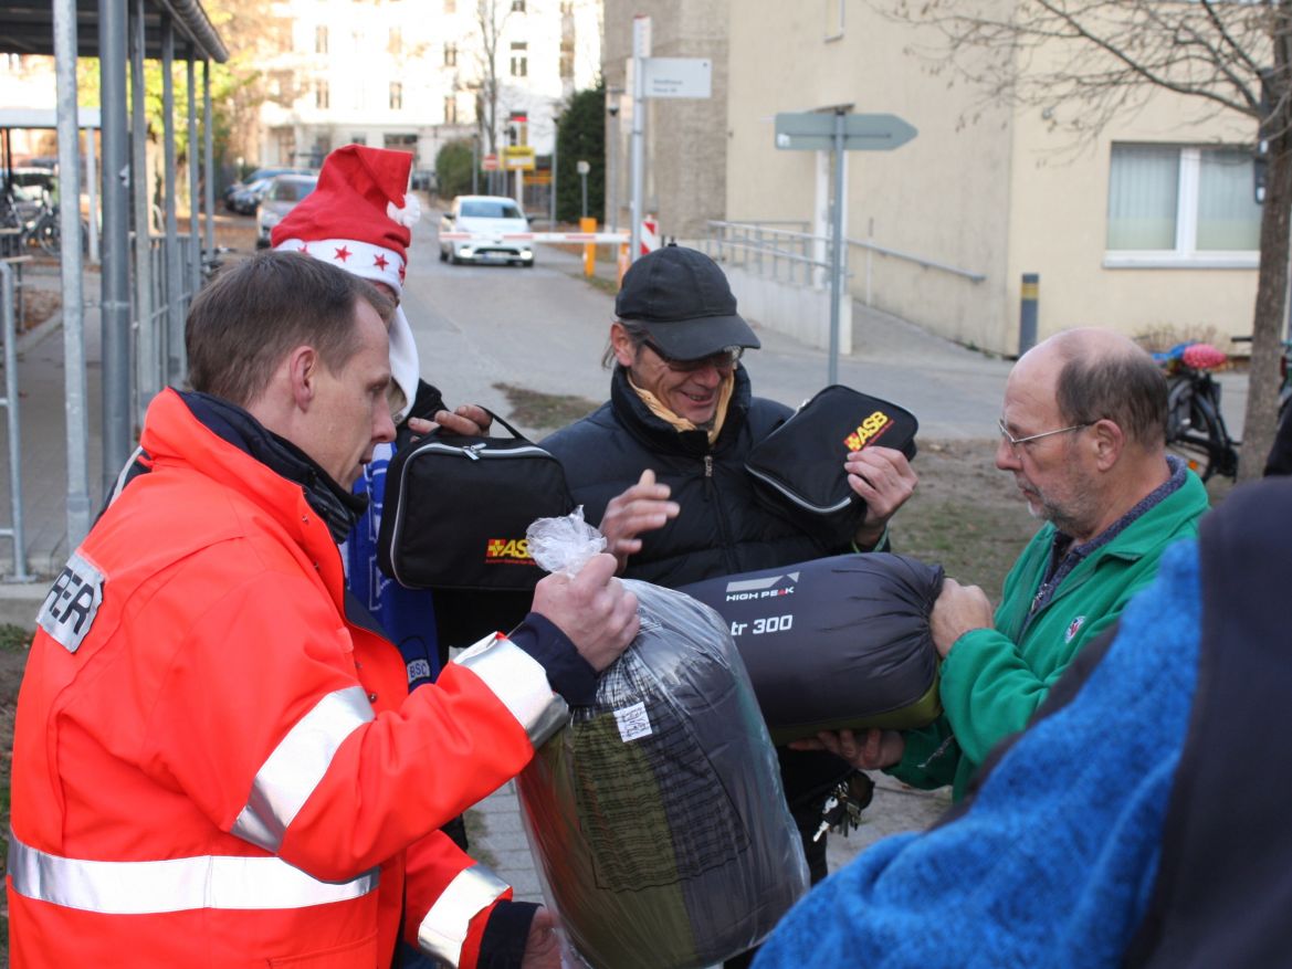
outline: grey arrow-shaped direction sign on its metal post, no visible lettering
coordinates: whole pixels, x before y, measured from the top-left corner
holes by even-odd
[[[844,152],[891,151],[919,132],[897,115],[853,115],[842,110],[776,115],[776,147],[788,151],[829,151],[835,167],[835,208],[831,218],[829,363],[827,382],[839,382],[839,307],[844,298]]]

